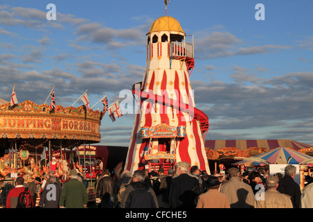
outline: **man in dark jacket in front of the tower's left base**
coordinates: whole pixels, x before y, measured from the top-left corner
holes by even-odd
[[[125,189],[122,197],[121,208],[158,208],[157,196],[153,189],[144,182],[145,173],[141,170],[134,171],[133,181]]]

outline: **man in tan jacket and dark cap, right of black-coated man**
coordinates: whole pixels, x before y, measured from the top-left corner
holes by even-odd
[[[218,191],[221,183],[216,176],[210,176],[205,182],[207,192],[199,196],[196,208],[230,208],[227,195]]]

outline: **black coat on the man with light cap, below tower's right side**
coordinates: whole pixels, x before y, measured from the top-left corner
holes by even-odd
[[[195,207],[191,197],[193,188],[198,184],[198,179],[187,173],[172,178],[170,187],[170,205],[172,208]]]

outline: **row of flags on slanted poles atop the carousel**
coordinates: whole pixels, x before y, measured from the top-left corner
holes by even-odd
[[[108,111],[109,112],[109,117],[111,118],[111,120],[113,122],[116,119],[118,119],[118,118],[123,116],[122,110],[120,109],[120,99],[114,101],[111,105],[109,105],[109,103],[108,103],[108,94],[106,94],[104,97],[102,97],[102,99],[97,101],[97,103],[95,103],[95,105],[93,105],[90,108],[89,107],[89,99],[88,99],[87,92],[88,92],[88,90],[86,90],[86,92],[84,92],[81,96],[79,96],[79,99],[81,99],[83,101],[83,103],[86,105],[87,112],[90,112],[90,109],[92,109],[95,105],[97,105],[97,103],[101,102],[103,104],[103,111],[102,112]],[[49,96],[51,96],[50,110],[54,110],[56,108],[56,95],[55,95],[55,92],[54,92],[54,87],[51,89],[51,92],[50,92]],[[49,96],[47,97],[47,99],[46,99],[44,104],[47,103],[47,100],[49,99]],[[79,101],[79,99],[77,99],[77,101]],[[72,104],[72,106],[77,101],[75,101]],[[12,107],[13,105],[15,105],[17,103],[18,103],[18,101],[17,101],[17,96],[15,94],[15,83],[14,83],[13,92],[12,92],[11,100],[10,100],[10,106]]]

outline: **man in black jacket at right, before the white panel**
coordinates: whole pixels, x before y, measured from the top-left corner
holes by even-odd
[[[291,202],[294,208],[300,207],[301,191],[300,186],[294,182],[296,176],[296,167],[288,165],[284,168],[284,177],[280,178],[277,190],[282,194],[291,196]]]

